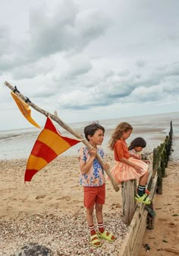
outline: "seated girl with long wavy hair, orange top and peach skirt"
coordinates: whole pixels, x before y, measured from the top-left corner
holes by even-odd
[[[151,202],[146,194],[149,165],[130,154],[127,149],[126,139],[129,138],[132,130],[133,127],[129,123],[122,122],[118,124],[111,136],[109,147],[114,151],[116,161],[115,167],[111,169],[111,174],[118,183],[140,178],[135,199],[138,202],[149,204]]]

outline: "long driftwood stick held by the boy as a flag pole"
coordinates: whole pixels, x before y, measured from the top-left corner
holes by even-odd
[[[17,94],[17,96],[25,101],[28,105],[30,105],[30,107],[33,107],[36,111],[38,111],[41,114],[44,114],[46,117],[51,117],[52,120],[54,120],[56,123],[58,123],[62,128],[64,128],[64,130],[67,130],[69,133],[71,133],[72,135],[74,135],[77,139],[83,139],[82,142],[85,146],[87,146],[89,149],[92,149],[93,147],[89,144],[89,142],[83,138],[83,136],[81,136],[79,133],[77,133],[76,131],[74,131],[70,126],[68,126],[68,124],[64,123],[58,116],[57,114],[51,114],[49,112],[47,112],[46,110],[42,110],[42,108],[38,107],[36,104],[33,104],[33,102],[31,102],[29,100],[29,98],[25,97],[23,94],[20,93],[20,91],[17,91],[17,88],[14,88],[10,83],[8,83],[7,81],[5,81],[5,85],[11,89],[11,91],[14,92],[14,94]],[[104,161],[102,160],[102,158],[99,156],[99,154],[96,155],[96,158],[98,159],[99,163],[103,166],[104,165]],[[118,192],[119,187],[118,184],[116,183],[115,179],[111,176],[111,172],[109,170],[105,170],[106,174],[108,175],[108,178],[111,181],[112,186],[114,187],[115,191]]]

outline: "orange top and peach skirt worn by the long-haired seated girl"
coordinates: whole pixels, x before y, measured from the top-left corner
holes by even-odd
[[[121,183],[121,181],[130,181],[136,178],[140,178],[141,176],[143,176],[143,174],[146,173],[149,168],[149,165],[147,165],[145,162],[139,159],[130,158],[127,149],[127,143],[124,139],[118,139],[118,141],[115,143],[114,154],[116,164],[115,167],[111,169],[111,174],[115,178],[115,181],[117,183]],[[133,164],[139,165],[143,171],[138,173],[136,169],[134,169],[132,166],[121,162],[121,158],[127,158],[130,162],[133,162]]]

